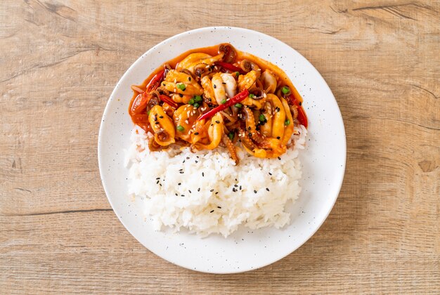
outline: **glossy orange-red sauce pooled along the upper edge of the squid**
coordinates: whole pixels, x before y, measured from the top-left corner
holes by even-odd
[[[177,56],[176,58],[173,58],[172,60],[168,60],[165,64],[169,64],[173,69],[176,68],[176,65],[183,60],[184,58],[186,58],[190,53],[207,53],[209,55],[217,55],[219,54],[218,52],[219,49],[219,45],[215,45],[215,46],[209,46],[209,47],[204,47],[204,48],[195,48],[195,49],[191,49],[190,51],[186,51],[184,53],[182,53],[181,55]],[[236,49],[235,49],[236,50]],[[285,74],[285,72],[283,70],[281,70],[278,66],[273,65],[273,63],[269,63],[267,60],[263,60],[261,58],[257,58],[257,56],[252,55],[250,53],[245,53],[242,51],[237,51],[237,58],[235,60],[235,63],[237,63],[240,60],[243,59],[247,59],[252,61],[253,63],[257,64],[260,68],[261,68],[261,72],[263,72],[264,70],[268,69],[271,70],[272,72],[274,72],[277,76],[278,76],[278,85],[277,85],[277,89],[280,86],[288,86],[290,88],[291,91],[291,96],[292,99],[290,99],[290,101],[288,101],[288,103],[290,105],[295,104],[297,105],[298,108],[298,121],[300,124],[304,125],[306,128],[308,126],[308,121],[307,121],[307,117],[306,117],[306,113],[304,112],[304,109],[302,107],[302,97],[299,95],[297,89],[295,89],[295,86],[293,86],[292,81],[290,81],[289,77],[287,77],[287,75]],[[129,105],[129,114],[131,116],[131,120],[133,121],[134,124],[141,126],[143,129],[147,130],[147,131],[151,131],[150,130],[150,124],[148,124],[148,116],[147,114],[132,114],[131,113],[131,105],[133,105],[134,103],[134,99],[136,98],[136,96],[138,96],[138,94],[140,94],[141,92],[137,91],[136,88],[145,91],[146,86],[148,85],[148,83],[150,82],[151,79],[153,79],[153,77],[155,76],[155,74],[157,74],[158,72],[163,70],[163,65],[161,65],[160,67],[157,67],[156,70],[154,70],[150,76],[148,76],[147,79],[145,79],[143,81],[143,83],[141,85],[138,86],[134,86],[132,87],[133,91],[134,91],[134,95],[131,98],[130,101],[130,105]]]

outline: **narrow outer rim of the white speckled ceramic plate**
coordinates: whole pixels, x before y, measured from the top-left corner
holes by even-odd
[[[328,84],[325,83],[325,80],[323,79],[321,74],[319,74],[319,72],[315,69],[315,67],[313,67],[313,65],[311,65],[311,63],[309,63],[309,61],[306,60],[306,58],[304,58],[300,53],[295,51],[295,49],[291,48],[290,46],[287,46],[289,48],[289,50],[291,50],[292,55],[295,55],[295,60],[297,60],[297,62],[301,63],[303,66],[306,65],[306,67],[308,67],[308,70],[310,70],[312,73],[313,79],[315,79],[315,81],[317,81],[317,83],[319,83],[320,86],[322,86],[324,88],[323,90],[325,91],[326,95],[328,96],[328,100],[330,101],[330,106],[332,107],[333,112],[335,114],[335,120],[337,122],[337,127],[338,127],[337,133],[335,133],[335,135],[337,135],[338,139],[339,139],[339,146],[338,146],[339,147],[339,150],[338,150],[339,162],[338,162],[338,164],[340,164],[340,166],[337,167],[337,175],[335,175],[335,179],[332,181],[333,193],[329,196],[329,199],[327,200],[328,205],[321,212],[321,215],[318,218],[319,220],[316,221],[316,223],[313,223],[314,224],[313,228],[310,228],[309,232],[307,232],[307,234],[302,237],[302,241],[296,242],[294,247],[287,249],[287,251],[283,251],[282,253],[276,255],[275,257],[272,257],[270,259],[266,259],[265,261],[261,261],[261,263],[257,263],[256,265],[253,265],[253,266],[249,265],[248,267],[245,266],[242,268],[231,268],[231,269],[222,269],[222,270],[220,270],[218,268],[214,268],[212,270],[209,268],[203,268],[203,267],[193,268],[193,265],[188,265],[187,261],[183,262],[183,261],[179,261],[179,259],[176,259],[176,258],[174,258],[174,259],[170,258],[168,255],[164,254],[163,251],[161,252],[159,249],[152,249],[152,247],[148,247],[148,244],[147,244],[147,242],[145,242],[145,239],[143,239],[143,237],[138,235],[138,232],[136,232],[136,230],[129,225],[129,222],[127,220],[122,218],[122,216],[124,214],[121,212],[122,210],[120,209],[120,207],[116,204],[117,199],[115,199],[115,195],[112,194],[112,190],[109,187],[109,182],[108,182],[108,179],[106,179],[107,174],[105,173],[105,167],[104,167],[106,164],[105,163],[106,159],[105,159],[105,152],[103,149],[103,147],[104,147],[103,137],[104,137],[105,129],[109,128],[108,123],[107,123],[108,121],[106,119],[111,117],[111,114],[110,114],[110,112],[112,111],[111,105],[117,99],[116,93],[118,90],[118,86],[120,84],[122,84],[122,81],[127,80],[127,77],[129,77],[132,70],[135,67],[137,67],[139,63],[141,63],[141,60],[145,56],[148,56],[150,53],[153,53],[154,51],[157,50],[157,48],[160,48],[160,46],[163,46],[164,44],[172,44],[172,42],[179,40],[188,34],[202,34],[202,33],[206,33],[206,32],[214,32],[215,30],[217,30],[217,32],[220,32],[223,30],[228,30],[229,32],[231,32],[231,34],[232,33],[233,34],[258,34],[261,37],[261,39],[270,40],[273,44],[277,44],[281,47],[287,46],[287,44],[284,44],[282,41],[279,41],[278,39],[275,39],[275,38],[268,36],[266,34],[256,32],[256,31],[253,31],[250,29],[239,28],[239,27],[202,27],[200,29],[193,29],[188,32],[176,34],[174,37],[170,37],[169,39],[166,39],[166,40],[160,42],[160,44],[153,46],[153,48],[150,48],[150,50],[148,50],[143,55],[141,55],[141,57],[138,58],[138,60],[136,60],[136,62],[133,63],[129,67],[127,72],[125,72],[124,75],[122,76],[122,78],[119,79],[117,86],[115,86],[115,89],[112,91],[112,94],[110,95],[110,99],[108,100],[108,103],[107,103],[105,110],[104,110],[104,113],[103,113],[103,119],[101,121],[101,126],[100,126],[100,130],[99,130],[99,134],[98,134],[98,165],[99,165],[99,171],[101,174],[101,181],[103,183],[103,188],[105,190],[105,194],[108,197],[108,201],[110,202],[110,205],[112,206],[112,209],[115,211],[115,214],[119,218],[119,221],[121,221],[122,225],[124,225],[124,227],[131,233],[131,235],[133,235],[136,238],[136,240],[141,242],[141,244],[143,244],[143,246],[147,247],[150,251],[153,251],[153,253],[155,253],[157,256],[160,256],[161,258],[164,258],[165,260],[167,260],[171,263],[179,265],[183,268],[188,268],[190,270],[197,270],[197,271],[201,271],[201,272],[205,272],[205,273],[219,273],[219,274],[221,274],[221,273],[242,273],[242,272],[245,272],[248,270],[255,270],[257,268],[261,268],[261,267],[264,267],[264,266],[269,265],[271,263],[274,263],[274,262],[284,258],[285,256],[291,254],[293,251],[295,251],[296,249],[301,247],[302,244],[304,244],[307,240],[309,240],[309,238],[314,235],[314,233],[318,230],[318,228],[321,227],[321,225],[324,223],[325,219],[330,214],[330,211],[332,210],[332,207],[334,206],[336,199],[339,195],[339,191],[342,187],[342,182],[344,179],[344,172],[345,172],[346,159],[347,159],[347,143],[346,143],[346,137],[345,137],[345,131],[344,131],[344,123],[342,121],[342,115],[340,113],[339,107],[337,106],[337,102],[335,100],[335,97],[332,95],[332,91],[328,87]],[[226,41],[228,41],[228,40],[226,40]],[[216,44],[216,43],[213,43],[213,44]],[[197,46],[197,45],[193,46],[193,48],[197,48],[197,47],[200,47],[200,46]],[[246,51],[243,48],[239,48],[239,49],[242,51]],[[252,51],[248,51],[248,52],[252,53]],[[261,55],[260,55],[260,57],[271,61],[271,58],[264,57]],[[163,63],[166,60],[161,60],[161,63]],[[283,70],[285,70],[285,69],[283,68]],[[288,74],[288,75],[290,77],[290,74]],[[145,79],[145,77],[143,77],[141,80]],[[292,77],[290,77],[290,79],[292,79]],[[292,79],[292,82],[294,83],[295,86],[297,86],[297,83],[295,83],[295,79]],[[306,85],[304,85],[304,86],[306,86]],[[302,94],[302,96],[304,96],[301,91],[301,87],[298,90]],[[305,105],[307,105],[306,99],[304,99],[304,106]],[[309,114],[309,112],[307,110],[306,110],[306,112]],[[313,124],[315,124],[315,123],[312,121],[311,126],[313,126]],[[298,214],[298,210],[296,210],[295,212]],[[198,237],[195,237],[195,239],[198,239]],[[209,237],[208,237],[208,239],[209,239]]]

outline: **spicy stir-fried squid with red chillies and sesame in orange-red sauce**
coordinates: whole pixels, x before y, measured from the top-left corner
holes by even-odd
[[[307,126],[302,98],[285,73],[231,44],[184,53],[132,89],[129,114],[150,133],[154,151],[222,146],[238,164],[240,146],[254,157],[279,157],[295,124]]]

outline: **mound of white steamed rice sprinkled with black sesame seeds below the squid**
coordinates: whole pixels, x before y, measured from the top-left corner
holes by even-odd
[[[306,129],[293,136],[295,147],[280,159],[258,159],[239,151],[240,164],[226,149],[178,155],[150,152],[147,134],[135,126],[127,150],[129,194],[141,197],[143,211],[155,230],[187,228],[206,236],[227,237],[245,225],[252,230],[266,226],[282,228],[290,222],[287,202],[297,199],[301,188],[301,165]]]

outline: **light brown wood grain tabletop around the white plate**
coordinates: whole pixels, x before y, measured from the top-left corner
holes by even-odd
[[[327,221],[293,254],[238,275],[150,253],[98,172],[101,116],[125,70],[211,25],[296,48],[347,132]],[[0,48],[0,293],[440,293],[439,1],[6,0]]]

